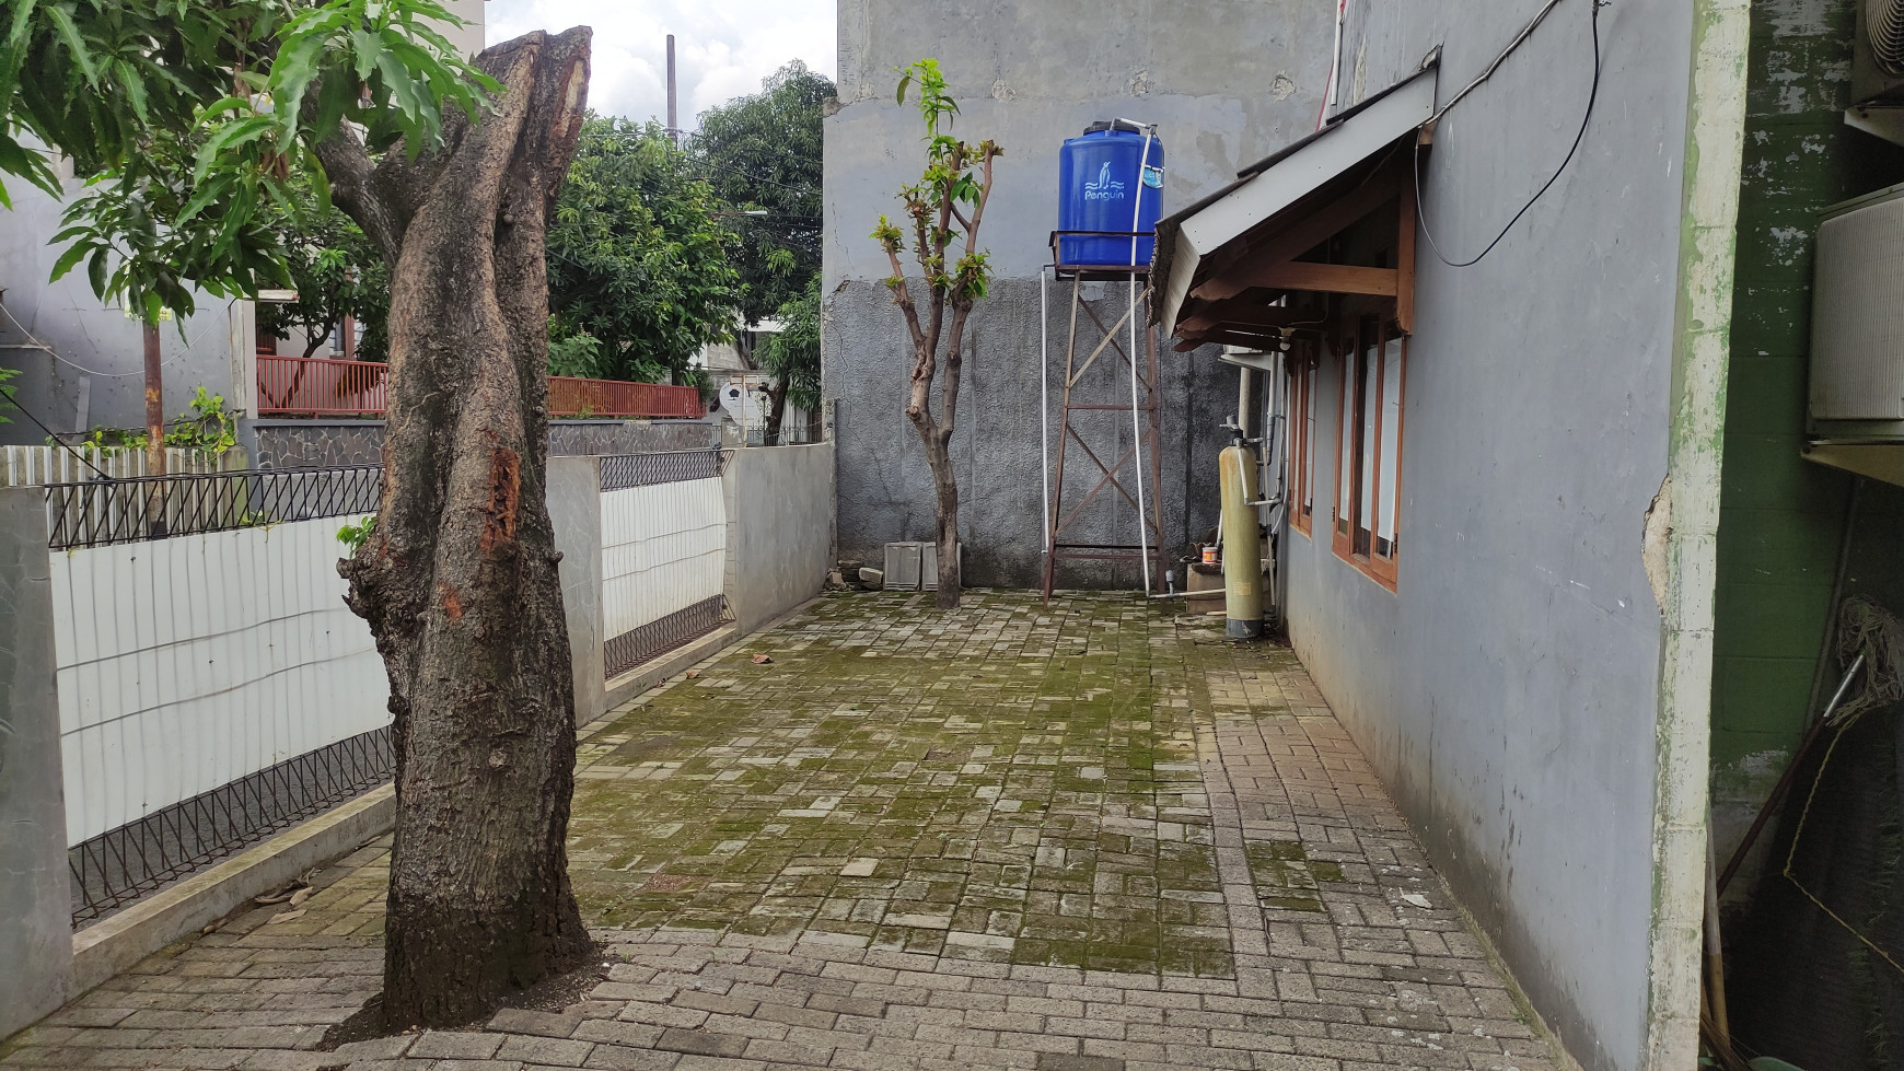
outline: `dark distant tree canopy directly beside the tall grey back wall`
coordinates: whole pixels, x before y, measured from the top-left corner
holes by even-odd
[[[798,59],[760,93],[701,112],[687,145],[716,196],[739,211],[735,266],[746,323],[798,301],[821,270],[821,120],[834,84]]]

